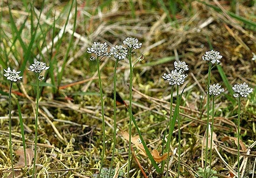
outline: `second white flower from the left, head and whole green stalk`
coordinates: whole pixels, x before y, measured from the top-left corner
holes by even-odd
[[[41,61],[35,61],[30,65],[28,70],[36,73],[36,120],[35,120],[35,149],[34,149],[34,164],[32,178],[36,177],[36,150],[37,150],[37,127],[38,127],[38,106],[39,106],[39,83],[43,80],[43,75],[40,75],[43,70],[48,70],[50,67],[46,66],[46,63]]]

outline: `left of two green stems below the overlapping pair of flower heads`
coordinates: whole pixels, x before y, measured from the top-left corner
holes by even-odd
[[[166,178],[168,177],[168,169],[169,169],[169,160],[170,160],[170,144],[171,144],[171,119],[172,119],[172,102],[173,102],[173,88],[174,85],[171,86],[171,101],[170,101],[170,121],[169,121],[169,132],[168,132],[168,141],[167,141],[167,164],[166,164]]]

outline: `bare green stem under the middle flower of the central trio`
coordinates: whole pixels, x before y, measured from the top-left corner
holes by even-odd
[[[116,59],[114,64],[114,143],[113,143],[113,151],[112,151],[112,158],[111,158],[108,178],[110,178],[111,176],[112,166],[114,162],[115,144],[116,144],[116,68],[117,68],[118,61],[119,60]]]

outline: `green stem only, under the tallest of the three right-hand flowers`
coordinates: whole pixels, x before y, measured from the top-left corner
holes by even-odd
[[[208,79],[207,79],[207,123],[206,123],[206,160],[205,160],[205,169],[204,169],[204,178],[206,178],[206,165],[207,165],[207,156],[208,156],[208,136],[209,136],[209,115],[210,115],[210,94],[209,94],[209,87],[210,87],[210,79],[211,79],[211,68],[212,63],[209,62],[209,69],[208,69]]]

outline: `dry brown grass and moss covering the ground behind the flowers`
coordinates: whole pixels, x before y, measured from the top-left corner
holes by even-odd
[[[241,151],[242,163],[245,164],[244,178],[251,178],[256,160],[256,146],[250,146],[256,141],[256,62],[251,60],[252,53],[256,53],[256,26],[249,26],[228,15],[227,11],[234,12],[252,22],[256,21],[256,6],[253,1],[239,1],[238,8],[228,0],[206,1],[214,7],[219,7],[220,12],[206,6],[199,1],[177,1],[176,14],[166,14],[160,3],[146,0],[133,1],[134,16],[128,0],[111,1],[80,1],[77,0],[77,26],[72,41],[71,51],[68,53],[64,76],[61,80],[58,92],[53,92],[51,86],[44,86],[42,98],[39,103],[39,140],[40,148],[37,160],[39,177],[50,178],[87,178],[97,173],[100,166],[100,152],[102,149],[102,131],[100,115],[100,96],[97,80],[97,70],[94,62],[89,60],[86,53],[93,41],[107,42],[109,46],[121,44],[126,37],[135,37],[142,42],[142,48],[133,56],[135,60],[141,53],[145,55],[142,63],[136,64],[133,79],[133,113],[142,135],[149,144],[150,149],[162,149],[162,138],[169,119],[170,86],[162,79],[163,73],[172,70],[173,59],[185,61],[189,66],[186,88],[181,102],[181,138],[182,138],[182,166],[181,175],[185,178],[198,176],[199,167],[203,167],[202,143],[206,130],[206,85],[208,66],[202,60],[202,55],[210,50],[210,44],[214,50],[220,52],[222,68],[227,75],[231,86],[235,83],[247,82],[254,92],[242,99],[241,135],[245,150]],[[153,3],[154,2],[154,3]],[[179,2],[179,3],[178,3]],[[235,2],[235,0],[234,0]],[[37,24],[36,16],[42,10],[40,24],[43,32],[35,40],[31,49],[31,59],[36,57],[43,47],[49,45],[64,26],[68,16],[69,1],[47,1],[42,7],[42,2],[34,4],[34,26]],[[168,2],[165,2],[166,7]],[[182,6],[183,5],[183,6]],[[100,9],[99,6],[102,6]],[[233,7],[233,8],[232,8]],[[64,10],[65,9],[65,10]],[[64,11],[63,11],[64,10]],[[57,78],[57,71],[64,63],[65,53],[73,32],[75,8],[71,9],[72,17],[68,22],[63,39],[43,53],[44,61],[50,64],[55,59],[57,63],[53,75]],[[30,17],[29,9],[26,9],[22,1],[11,2],[11,13],[18,29],[26,17]],[[10,27],[10,19],[7,1],[1,3],[1,41],[0,47],[5,48],[8,56],[3,51],[0,57],[8,58],[8,66],[19,70],[24,61],[24,51],[19,40],[14,41],[15,32]],[[53,33],[53,17],[60,16],[56,20],[56,29]],[[171,18],[171,21],[169,18]],[[21,38],[25,44],[30,40],[31,21],[27,21]],[[5,34],[5,35],[3,35]],[[7,38],[9,37],[9,41]],[[11,44],[14,44],[11,47]],[[12,48],[12,49],[11,49]],[[174,58],[171,58],[174,57]],[[26,66],[29,66],[28,62]],[[107,150],[104,167],[109,168],[113,142],[113,58],[105,58],[101,61],[101,74],[105,99]],[[124,100],[128,99],[128,60],[119,62],[117,71],[117,91]],[[8,92],[9,83],[3,77],[4,66],[0,65],[0,176],[7,177],[10,168],[8,151]],[[27,67],[26,67],[27,68]],[[34,139],[35,118],[35,91],[31,83],[35,83],[34,75],[24,70],[22,82],[15,86],[13,93],[18,97],[28,150],[32,149]],[[52,84],[50,74],[46,75],[46,83]],[[237,104],[232,103],[228,96],[227,86],[224,85],[217,68],[212,71],[212,83],[220,83],[225,88],[225,94],[216,99],[215,143],[213,150],[213,170],[215,176],[231,178],[232,171],[228,165],[236,168],[237,147],[234,140],[223,138],[236,137]],[[56,84],[57,85],[57,84]],[[184,85],[185,86],[185,85]],[[183,86],[183,87],[184,87]],[[181,88],[182,90],[183,88]],[[127,102],[128,103],[128,102]],[[13,100],[13,149],[17,151],[22,145],[21,132],[18,119],[18,111]],[[124,105],[119,105],[117,110],[118,129],[117,145],[114,157],[114,166],[120,164],[120,170],[127,172],[128,142],[121,136],[121,131],[128,130],[128,112]],[[171,150],[178,147],[178,132],[175,127],[171,141]],[[137,135],[135,128],[133,135]],[[249,149],[250,148],[250,149]],[[249,156],[245,156],[248,154]],[[147,158],[137,154],[132,159],[130,175],[142,178],[140,168],[151,178],[160,177],[154,171]],[[219,152],[219,155],[217,154]],[[21,153],[14,154],[15,165],[19,162]],[[29,154],[28,151],[28,155]],[[170,174],[175,176],[177,172],[177,157],[174,157]],[[224,164],[224,160],[228,165]],[[139,163],[139,164],[138,164]],[[22,165],[22,161],[21,161]],[[24,168],[17,169],[21,177],[29,174]],[[21,171],[20,171],[21,170]],[[30,170],[30,174],[31,174]],[[125,177],[125,176],[124,176]]]

